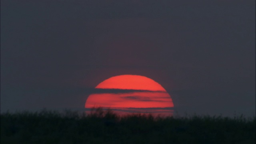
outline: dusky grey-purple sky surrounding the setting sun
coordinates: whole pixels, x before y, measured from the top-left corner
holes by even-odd
[[[178,114],[255,116],[255,0],[1,0],[0,110],[80,109],[151,78]]]

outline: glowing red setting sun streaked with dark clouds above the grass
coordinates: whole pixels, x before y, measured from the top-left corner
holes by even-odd
[[[124,92],[90,94],[85,108],[102,107],[125,112],[166,112],[173,108],[172,98],[154,80],[145,76],[120,75],[108,78],[96,89],[129,90]]]

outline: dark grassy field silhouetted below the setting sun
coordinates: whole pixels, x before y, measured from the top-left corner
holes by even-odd
[[[1,114],[1,144],[254,144],[254,118],[118,118],[111,111]]]

